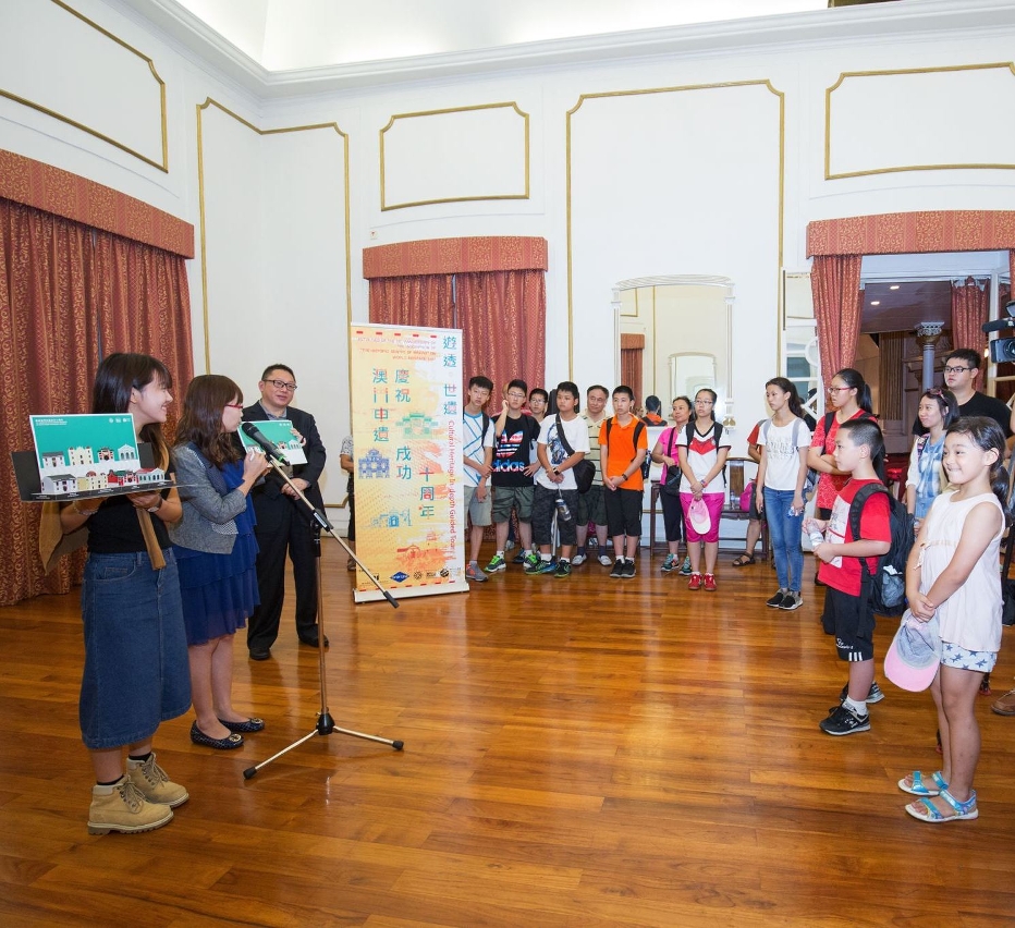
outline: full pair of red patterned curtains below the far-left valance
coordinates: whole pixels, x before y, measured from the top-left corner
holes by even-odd
[[[0,199],[0,460],[32,450],[29,414],[90,410],[100,351],[161,358],[182,392],[193,375],[183,257]],[[39,508],[20,501],[10,466],[0,524],[0,605],[65,593],[81,577],[83,555],[44,577]]]

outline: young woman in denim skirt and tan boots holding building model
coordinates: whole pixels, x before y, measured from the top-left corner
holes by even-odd
[[[99,365],[91,399],[93,413],[130,413],[138,440],[151,445],[156,465],[166,471],[162,424],[171,387],[160,361],[117,353]],[[191,705],[180,584],[167,534],[180,512],[175,490],[75,500],[60,510],[64,533],[87,527],[88,534],[80,715],[96,779],[91,834],[160,828],[188,798],[152,750],[159,724]]]

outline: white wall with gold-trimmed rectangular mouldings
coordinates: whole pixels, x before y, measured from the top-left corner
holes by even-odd
[[[3,96],[0,147],[121,190],[186,219],[198,233],[199,155],[207,266],[201,267],[198,241],[189,276],[196,367],[205,365],[207,296],[212,368],[234,377],[249,398],[264,364],[292,364],[301,383],[297,404],[318,416],[332,460],[348,424],[346,322],[348,316],[367,316],[360,278],[366,246],[460,235],[545,236],[550,386],[568,376],[579,386],[612,381],[616,345],[610,301],[617,281],[674,273],[729,277],[736,296],[731,386],[737,419],[746,423],[763,414],[762,384],[775,373],[780,262],[791,270],[806,268],[808,221],[1015,209],[1015,171],[1003,168],[826,178],[826,95],[844,72],[922,70],[846,78],[831,94],[831,173],[907,167],[908,159],[915,159],[908,167],[919,167],[994,163],[1003,157],[998,136],[968,126],[964,114],[982,118],[978,95],[987,83],[1001,125],[1011,110],[1015,74],[940,69],[1011,60],[1015,15],[1003,27],[995,17],[989,30],[977,30],[971,15],[968,32],[939,34],[928,19],[902,37],[826,37],[811,46],[766,47],[759,36],[756,47],[732,53],[702,46],[682,56],[269,100],[267,94],[261,99],[241,89],[117,0],[72,4],[154,61],[166,82],[169,171]],[[125,93],[120,86],[140,80],[137,61],[68,45],[81,23],[69,20],[53,29],[54,10],[58,20],[69,16],[46,0],[0,4],[4,41],[35,52],[22,56],[16,87],[0,80],[0,90],[37,97],[40,103],[58,99],[78,121],[101,121],[103,134],[154,150],[150,93]],[[62,83],[61,74],[68,75]],[[14,77],[8,73],[7,80]],[[665,93],[640,93],[646,90]],[[239,119],[213,105],[205,108],[198,146],[197,107],[209,97]],[[514,105],[498,117],[515,115],[488,119],[491,110],[468,109],[494,103]],[[386,190],[398,196],[389,199],[447,200],[485,190],[491,197],[511,196],[526,167],[528,198],[382,209],[381,131],[393,117],[435,110],[455,113],[414,117],[398,150],[391,135]],[[925,126],[917,145],[905,117],[918,110],[940,118],[937,131]],[[517,113],[528,117],[527,166]],[[319,123],[335,123],[347,135],[347,163],[339,132],[301,129]],[[257,132],[273,129],[299,131]],[[449,139],[456,136],[462,145],[452,144],[452,151],[481,151],[479,138],[496,157],[463,158],[449,170]],[[344,496],[344,480],[338,479],[337,466],[330,471],[326,499],[333,503]]]

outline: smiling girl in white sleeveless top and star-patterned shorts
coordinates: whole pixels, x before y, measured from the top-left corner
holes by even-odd
[[[906,596],[922,622],[938,616],[941,664],[930,685],[941,729],[942,767],[915,771],[900,789],[919,796],[906,811],[922,821],[976,818],[973,777],[980,756],[976,695],[1001,647],[998,554],[1006,517],[1004,435],[993,419],[961,418],[944,439],[944,471],[956,488],[930,508],[906,564]]]

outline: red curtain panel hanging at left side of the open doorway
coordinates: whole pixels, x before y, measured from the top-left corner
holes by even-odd
[[[818,255],[810,289],[818,326],[818,352],[826,386],[836,371],[852,367],[860,334],[860,255]]]

